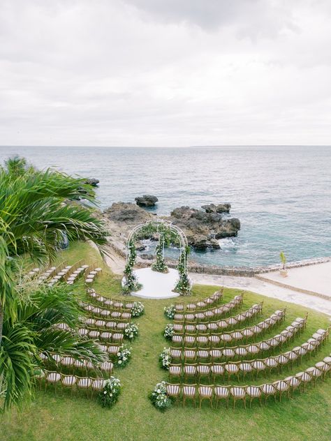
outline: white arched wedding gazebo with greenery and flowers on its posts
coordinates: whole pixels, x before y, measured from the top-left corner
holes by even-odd
[[[138,239],[149,239],[154,234],[159,235],[159,244],[156,246],[156,263],[152,269],[154,271],[167,272],[164,263],[164,247],[170,244],[179,245],[179,260],[177,269],[179,271],[179,280],[174,291],[181,295],[191,294],[191,283],[187,275],[187,257],[189,254],[189,245],[186,235],[177,225],[173,225],[169,221],[156,219],[155,221],[147,221],[137,225],[128,236],[126,242],[127,258],[126,267],[124,269],[124,292],[132,292],[140,288],[138,281],[133,272],[137,251],[135,249],[135,241]]]

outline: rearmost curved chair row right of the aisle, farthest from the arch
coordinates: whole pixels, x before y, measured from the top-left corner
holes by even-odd
[[[295,389],[304,391],[304,387],[308,383],[313,383],[316,385],[318,378],[325,380],[327,373],[331,371],[331,357],[325,357],[323,361],[319,361],[315,366],[307,368],[303,372],[299,372],[296,375],[290,375],[283,380],[277,380],[272,383],[265,383],[254,386],[224,386],[219,384],[209,384],[209,385],[198,385],[198,384],[171,384],[166,385],[167,394],[171,396],[176,401],[182,398],[183,406],[186,400],[190,399],[196,406],[196,399],[199,399],[200,408],[203,400],[208,400],[210,406],[213,407],[213,402],[218,408],[219,401],[225,400],[228,407],[229,398],[233,399],[233,409],[235,408],[235,402],[242,400],[244,402],[244,408],[246,408],[246,400],[249,400],[249,406],[251,407],[251,402],[256,398],[261,405],[263,397],[265,398],[265,403],[269,396],[274,396],[274,401],[276,401],[276,396],[279,396],[279,401],[281,402],[281,396],[287,394],[290,398],[290,394],[293,397],[293,392]]]

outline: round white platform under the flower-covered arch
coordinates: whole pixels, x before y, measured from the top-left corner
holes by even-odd
[[[135,269],[138,282],[142,284],[139,291],[131,292],[131,295],[144,297],[145,299],[170,299],[178,297],[178,292],[173,292],[179,274],[177,269],[169,268],[166,274],[152,271],[150,268]]]

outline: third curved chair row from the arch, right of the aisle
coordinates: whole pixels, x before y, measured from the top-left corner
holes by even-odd
[[[216,320],[212,322],[202,322],[193,324],[183,324],[182,322],[174,322],[174,330],[180,334],[193,334],[194,332],[207,332],[207,331],[219,331],[227,329],[229,327],[235,327],[238,323],[242,324],[249,321],[251,318],[262,314],[263,301],[259,304],[251,306],[247,311],[243,311],[232,317],[223,318],[222,320]]]

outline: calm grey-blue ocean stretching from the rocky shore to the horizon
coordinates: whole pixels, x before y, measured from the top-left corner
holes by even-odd
[[[331,255],[330,147],[0,147],[0,163],[19,154],[37,167],[100,180],[98,201],[159,197],[156,212],[230,202],[240,219],[221,250],[192,253],[221,266],[256,267]]]

